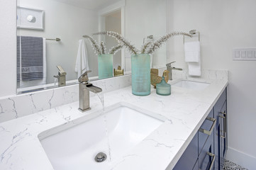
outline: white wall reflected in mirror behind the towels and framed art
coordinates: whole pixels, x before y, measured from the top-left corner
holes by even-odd
[[[52,0],[19,0],[18,5],[45,11],[44,30],[18,29],[19,35],[61,39],[60,42],[46,41],[47,84],[53,83],[53,75],[57,75],[58,72],[56,65],[59,64],[67,72],[67,80],[77,79],[74,65],[78,40],[82,39],[82,35],[94,33],[98,29],[96,11]],[[88,42],[87,52],[90,69],[93,69],[90,76],[97,75],[97,57]]]

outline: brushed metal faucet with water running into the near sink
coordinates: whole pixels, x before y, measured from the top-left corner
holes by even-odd
[[[89,91],[93,92],[94,94],[97,94],[102,91],[101,88],[92,85],[89,83],[88,73],[91,72],[91,70],[84,72],[82,74],[78,81],[79,81],[79,111],[85,112],[89,111],[90,108],[90,96]]]

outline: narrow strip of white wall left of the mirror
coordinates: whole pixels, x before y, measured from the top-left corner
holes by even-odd
[[[0,97],[16,94],[16,0],[0,1]]]

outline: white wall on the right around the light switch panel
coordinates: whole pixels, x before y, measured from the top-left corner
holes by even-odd
[[[233,61],[233,47],[256,47],[255,0],[169,0],[169,29],[199,30],[204,69],[228,69],[228,155],[256,168],[256,61]],[[182,38],[169,43],[170,61],[187,69]]]

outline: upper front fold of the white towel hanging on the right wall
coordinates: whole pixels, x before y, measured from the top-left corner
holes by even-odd
[[[199,62],[200,59],[200,42],[185,42],[185,62]]]

